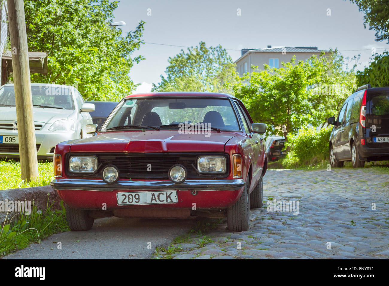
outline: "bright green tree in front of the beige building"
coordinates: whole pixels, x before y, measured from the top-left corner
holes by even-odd
[[[246,73],[233,89],[255,122],[270,125],[266,135],[287,138],[306,125],[323,125],[338,112],[355,88],[355,67],[344,71],[343,64],[336,50],[297,63],[293,57],[281,68],[264,65],[264,70]]]

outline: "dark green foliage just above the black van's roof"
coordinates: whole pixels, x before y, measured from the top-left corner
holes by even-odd
[[[389,53],[385,51],[374,57],[370,66],[357,71],[358,86],[370,83],[371,87],[389,86]]]

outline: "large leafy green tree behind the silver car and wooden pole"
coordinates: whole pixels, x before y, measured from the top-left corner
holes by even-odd
[[[117,1],[25,0],[30,51],[47,52],[47,75],[32,74],[32,82],[77,86],[86,99],[119,100],[136,88],[128,76],[134,50],[142,44],[144,22],[122,36],[110,26]]]

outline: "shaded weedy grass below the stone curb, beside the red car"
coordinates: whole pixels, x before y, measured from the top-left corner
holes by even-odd
[[[54,233],[70,230],[63,202],[61,206],[59,211],[47,206],[46,211],[42,213],[33,205],[30,215],[21,212],[12,218],[6,218],[0,226],[0,257],[23,249],[31,243],[40,243],[42,239]]]

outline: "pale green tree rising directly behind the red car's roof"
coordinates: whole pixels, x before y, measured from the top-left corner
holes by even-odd
[[[169,57],[166,78],[153,84],[152,91],[210,91],[230,93],[226,82],[235,82],[236,67],[223,47],[190,47]]]

